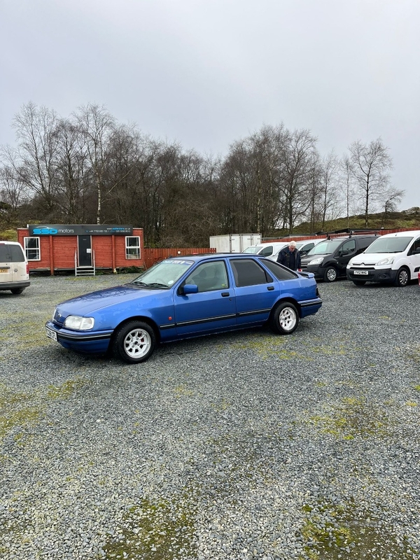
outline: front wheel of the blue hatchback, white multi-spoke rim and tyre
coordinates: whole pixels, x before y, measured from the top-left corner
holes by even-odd
[[[145,362],[153,353],[156,337],[153,328],[142,321],[121,325],[113,337],[113,355],[127,363]]]

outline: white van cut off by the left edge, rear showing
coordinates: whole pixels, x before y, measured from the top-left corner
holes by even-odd
[[[29,285],[29,267],[22,245],[0,241],[0,290],[17,294]]]

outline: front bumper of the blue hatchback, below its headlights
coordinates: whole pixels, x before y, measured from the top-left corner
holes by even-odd
[[[59,328],[52,321],[45,323],[45,329],[48,338],[57,340],[64,348],[85,353],[105,353],[108,351],[113,334],[112,330],[92,332]]]

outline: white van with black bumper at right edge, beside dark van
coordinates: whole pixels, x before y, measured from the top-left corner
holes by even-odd
[[[381,235],[353,257],[347,265],[347,279],[356,286],[366,282],[407,286],[420,271],[420,230]]]

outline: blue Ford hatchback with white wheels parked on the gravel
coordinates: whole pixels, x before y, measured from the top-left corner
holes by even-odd
[[[147,360],[159,342],[269,323],[290,335],[322,304],[314,274],[258,255],[168,258],[123,286],[62,302],[45,325],[64,348]]]

